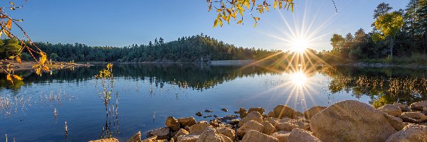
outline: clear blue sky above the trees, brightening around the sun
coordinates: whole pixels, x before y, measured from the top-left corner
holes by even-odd
[[[21,26],[34,41],[49,43],[122,47],[147,44],[157,37],[171,41],[204,33],[247,48],[285,49],[291,44],[291,33],[304,29],[302,33],[310,36],[307,39],[310,47],[330,50],[333,33],[345,35],[359,28],[371,31],[373,11],[383,1],[393,10],[404,9],[408,3],[408,0],[335,0],[336,13],[332,0],[295,0],[295,11],[264,13],[256,28],[249,16],[243,26],[233,22],[212,28],[217,13],[207,11],[204,0],[30,0],[23,9],[10,11],[9,15],[24,19]]]

